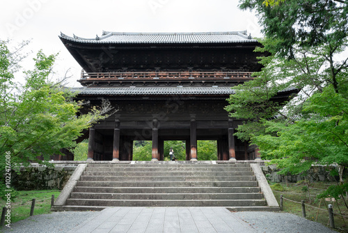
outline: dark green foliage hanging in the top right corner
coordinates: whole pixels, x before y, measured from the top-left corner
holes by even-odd
[[[294,49],[318,45],[340,46],[348,34],[348,3],[338,0],[240,0],[243,10],[256,10],[264,34],[276,40],[283,57]],[[271,5],[271,7],[269,7]]]

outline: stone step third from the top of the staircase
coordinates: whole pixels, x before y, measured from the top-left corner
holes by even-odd
[[[255,176],[81,176],[80,181],[255,181]]]

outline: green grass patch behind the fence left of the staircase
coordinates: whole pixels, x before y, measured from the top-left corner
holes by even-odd
[[[54,195],[56,199],[59,193],[61,193],[60,190],[17,191],[17,196],[11,203],[11,223],[18,222],[30,216],[31,200],[33,198],[35,198],[34,215],[51,213],[51,197]],[[5,205],[6,201],[0,199],[1,209]]]

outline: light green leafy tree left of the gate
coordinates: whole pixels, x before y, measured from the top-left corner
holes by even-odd
[[[8,42],[0,41],[0,154],[10,153],[13,165],[42,163],[38,156],[47,161],[61,154],[62,148],[74,148],[81,131],[111,110],[104,104],[103,109],[93,107],[81,114],[84,103],[72,100],[74,94],[61,82],[49,82],[55,59],[56,55],[39,51],[33,70],[24,72],[25,83],[20,85],[14,82],[22,60],[20,50],[11,52]]]

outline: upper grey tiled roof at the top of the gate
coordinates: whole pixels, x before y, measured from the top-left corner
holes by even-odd
[[[246,31],[194,33],[119,33],[103,31],[102,36],[81,38],[61,33],[60,38],[79,43],[250,43],[257,42]]]

